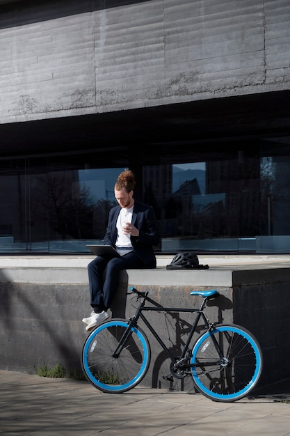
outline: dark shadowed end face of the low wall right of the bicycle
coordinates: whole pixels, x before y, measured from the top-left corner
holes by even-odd
[[[234,322],[259,338],[264,380],[290,376],[289,273],[289,269],[279,267],[233,273]]]

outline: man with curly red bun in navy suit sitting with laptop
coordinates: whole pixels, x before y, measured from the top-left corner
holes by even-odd
[[[93,311],[88,318],[83,318],[87,332],[108,318],[107,309],[118,288],[120,270],[156,267],[152,247],[159,243],[156,217],[151,206],[134,201],[135,185],[132,171],[123,171],[118,176],[115,198],[119,205],[109,212],[104,236],[104,244],[117,249],[121,257],[97,256],[88,264],[90,305]]]

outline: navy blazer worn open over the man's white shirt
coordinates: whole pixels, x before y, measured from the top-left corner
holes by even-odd
[[[108,214],[108,226],[104,243],[115,247],[117,241],[117,219],[120,213],[120,205],[112,208]],[[159,243],[159,230],[156,224],[156,217],[151,206],[135,201],[132,215],[133,226],[138,228],[139,236],[131,236],[133,249],[145,268],[156,267],[156,257],[153,245]]]

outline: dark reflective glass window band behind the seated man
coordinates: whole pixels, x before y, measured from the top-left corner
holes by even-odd
[[[164,155],[143,166],[138,199],[156,212],[156,249],[290,252],[290,150],[277,139],[260,143],[255,155],[245,148],[195,162],[184,150],[187,162]],[[0,253],[84,253],[102,241],[124,167],[80,156],[0,162]]]

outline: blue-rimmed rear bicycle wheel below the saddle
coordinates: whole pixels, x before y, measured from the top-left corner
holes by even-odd
[[[193,382],[215,401],[236,401],[255,387],[262,368],[261,349],[247,329],[217,325],[193,347]]]

